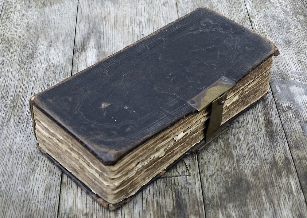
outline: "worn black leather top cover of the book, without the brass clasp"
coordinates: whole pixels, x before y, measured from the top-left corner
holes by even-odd
[[[116,43],[116,42],[115,42]],[[207,8],[37,94],[30,101],[106,165],[188,114],[218,82],[233,86],[275,45]]]

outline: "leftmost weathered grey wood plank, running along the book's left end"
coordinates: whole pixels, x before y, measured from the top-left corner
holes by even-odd
[[[57,215],[61,173],[36,148],[29,98],[70,75],[75,24],[76,1],[3,4],[0,217]]]

